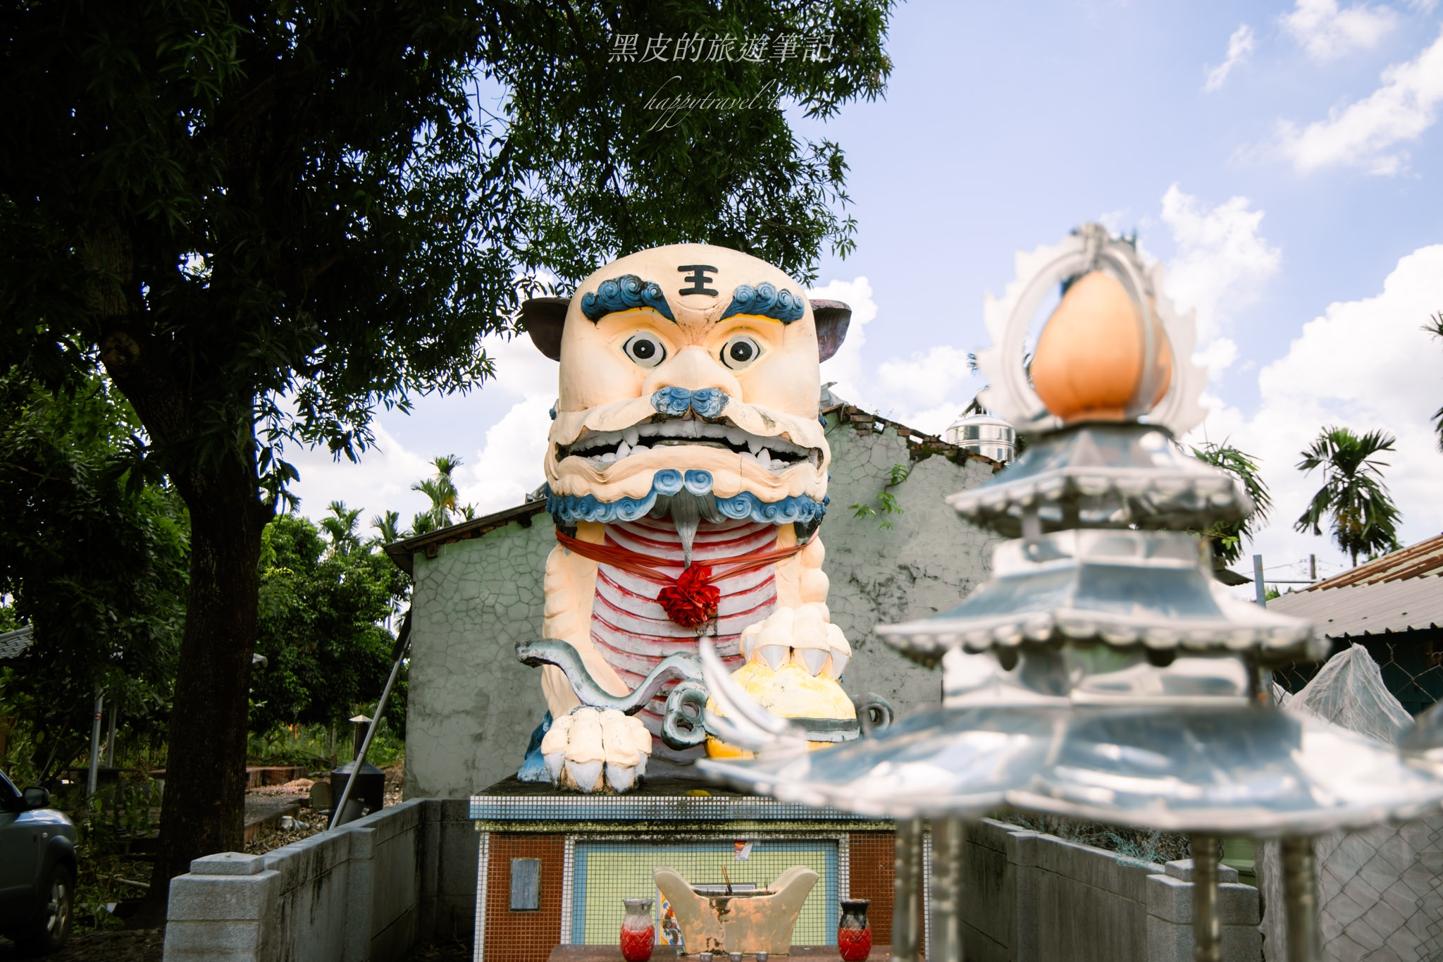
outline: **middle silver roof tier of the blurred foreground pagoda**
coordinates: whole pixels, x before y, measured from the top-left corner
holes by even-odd
[[[1068,643],[1224,650],[1261,663],[1326,655],[1307,622],[1231,597],[1198,538],[1170,531],[1082,528],[1006,541],[991,577],[955,609],[876,632],[919,661],[949,648]]]

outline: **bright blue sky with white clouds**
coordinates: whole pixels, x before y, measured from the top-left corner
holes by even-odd
[[[1436,1],[1436,0],[1434,0]],[[854,401],[941,430],[978,384],[986,291],[1016,251],[1101,219],[1137,229],[1198,312],[1208,361],[1199,437],[1264,459],[1277,509],[1258,538],[1276,577],[1342,557],[1291,532],[1316,487],[1293,464],[1323,423],[1398,434],[1387,477],[1404,541],[1443,531],[1443,12],[1429,3],[925,3],[900,6],[885,101],[807,137],[841,143],[857,251],[818,288],[857,309],[824,368]],[[1224,69],[1225,68],[1225,69]],[[455,451],[483,511],[541,480],[556,368],[498,346],[496,382],[380,418],[359,467],[302,456],[313,516],[332,498],[410,516],[426,459]]]

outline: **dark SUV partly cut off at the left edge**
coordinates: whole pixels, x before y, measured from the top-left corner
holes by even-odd
[[[49,805],[0,772],[0,932],[33,955],[65,945],[75,899],[75,825]]]

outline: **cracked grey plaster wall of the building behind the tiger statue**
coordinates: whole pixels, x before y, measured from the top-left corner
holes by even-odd
[[[850,417],[828,430],[831,508],[821,526],[828,606],[854,650],[844,688],[874,691],[905,714],[941,700],[941,674],[905,661],[872,629],[949,609],[986,578],[996,537],[962,524],[942,498],[986,482],[993,467],[944,456],[913,460],[916,443],[895,425]],[[893,489],[905,513],[887,516],[887,531],[879,518],[853,518],[848,505],[876,506],[893,464],[912,469]],[[405,798],[466,798],[519,767],[545,702],[537,671],[517,662],[515,645],[540,637],[541,577],[554,544],[551,519],[540,513],[527,526],[512,522],[442,544],[434,558],[413,555]]]

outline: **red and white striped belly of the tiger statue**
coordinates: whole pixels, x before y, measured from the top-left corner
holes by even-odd
[[[681,574],[681,538],[670,519],[642,518],[606,525],[606,544],[646,555],[664,574]],[[742,555],[775,547],[775,525],[755,521],[701,522],[691,542],[691,562],[723,567]],[[740,668],[742,629],[776,610],[775,571],[776,565],[766,565],[713,581],[722,593],[714,623],[683,627],[667,617],[657,601],[662,586],[600,564],[592,604],[592,640],[629,688],[636,688],[667,655],[696,653],[701,635],[713,637],[717,653],[729,668]],[[674,762],[697,759],[704,754],[701,746],[677,751],[659,738],[661,718],[667,711],[665,695],[672,684],[665,685],[636,717],[651,730],[655,756]]]

